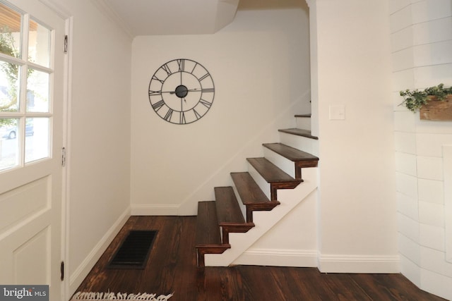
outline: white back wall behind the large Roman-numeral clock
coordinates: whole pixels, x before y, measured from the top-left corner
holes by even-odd
[[[299,1],[303,2],[303,1]],[[132,214],[195,215],[213,188],[246,171],[278,128],[309,112],[309,13],[295,8],[239,10],[215,35],[136,37],[132,54]],[[174,125],[153,111],[150,78],[172,59],[193,59],[215,82],[200,121]]]

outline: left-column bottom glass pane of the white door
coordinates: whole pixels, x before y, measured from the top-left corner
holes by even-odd
[[[18,165],[18,119],[0,118],[0,171]]]

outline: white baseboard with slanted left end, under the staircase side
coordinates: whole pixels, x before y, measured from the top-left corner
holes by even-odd
[[[257,266],[317,266],[316,250],[249,249],[232,264]]]

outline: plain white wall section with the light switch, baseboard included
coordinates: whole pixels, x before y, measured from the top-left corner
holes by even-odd
[[[309,1],[319,123],[319,268],[397,272],[386,1]],[[311,13],[312,15],[312,13]],[[330,119],[343,106],[344,120]],[[314,119],[315,119],[314,118]]]

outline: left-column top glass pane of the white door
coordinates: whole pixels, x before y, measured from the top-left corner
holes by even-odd
[[[22,15],[0,3],[0,52],[20,58],[20,27]]]

